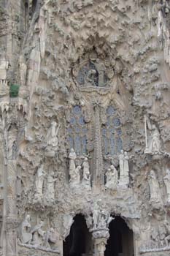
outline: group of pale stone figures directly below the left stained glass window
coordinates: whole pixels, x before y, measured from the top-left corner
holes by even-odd
[[[70,154],[69,154],[69,184],[71,187],[76,187],[80,184],[80,171],[83,170],[82,174],[82,185],[90,189],[90,170],[89,170],[89,163],[88,158],[85,157],[85,159],[82,162],[82,165],[76,166],[77,155],[73,148],[71,148]]]

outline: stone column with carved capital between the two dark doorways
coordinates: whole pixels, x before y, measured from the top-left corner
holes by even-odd
[[[103,229],[93,230],[95,256],[104,256],[108,238],[109,229],[107,227]]]

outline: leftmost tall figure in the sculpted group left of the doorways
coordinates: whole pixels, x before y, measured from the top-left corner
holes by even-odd
[[[30,244],[32,240],[30,215],[26,215],[21,224],[20,241],[22,244]]]

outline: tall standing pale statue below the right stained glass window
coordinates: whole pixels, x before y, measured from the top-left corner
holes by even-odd
[[[120,151],[119,165],[120,165],[120,181],[121,187],[128,187],[129,184],[129,167],[128,167],[128,153],[123,150]]]

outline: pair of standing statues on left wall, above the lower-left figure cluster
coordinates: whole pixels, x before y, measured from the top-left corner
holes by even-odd
[[[44,197],[43,187],[46,181],[46,189],[45,189],[45,199],[49,202],[55,200],[55,181],[56,178],[53,178],[54,172],[51,171],[47,177],[44,170],[43,165],[40,165],[36,172],[36,180],[35,180],[35,194],[34,200],[42,200]]]

